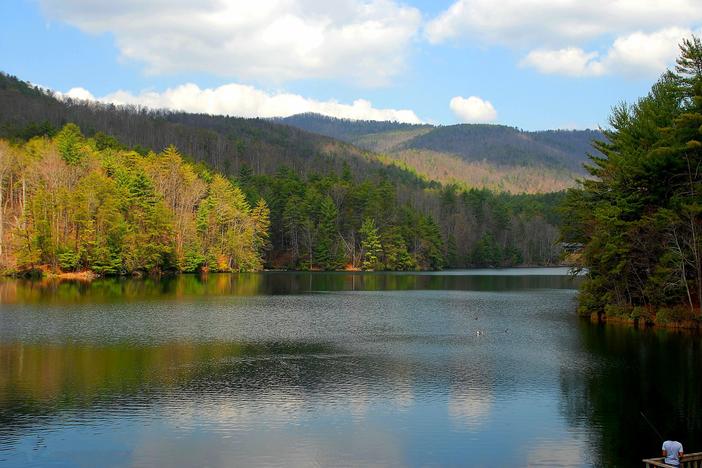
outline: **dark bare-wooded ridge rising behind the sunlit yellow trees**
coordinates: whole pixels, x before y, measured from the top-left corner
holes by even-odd
[[[174,145],[227,174],[238,173],[242,165],[256,174],[273,173],[282,164],[304,174],[310,170],[339,170],[346,162],[354,173],[366,177],[382,172],[405,183],[422,183],[350,144],[265,119],[57,99],[48,91],[0,73],[0,138],[26,140],[55,133],[69,122],[88,136],[101,132],[142,153]]]

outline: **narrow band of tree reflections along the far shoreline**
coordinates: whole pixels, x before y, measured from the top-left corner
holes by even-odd
[[[424,273],[268,272],[177,275],[161,278],[0,279],[0,303],[95,303],[206,295],[251,296],[310,291],[474,290],[573,288],[565,276],[452,275]]]

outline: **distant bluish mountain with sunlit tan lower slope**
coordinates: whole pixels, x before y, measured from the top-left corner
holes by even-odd
[[[504,125],[414,125],[300,114],[276,122],[383,153],[442,182],[512,192],[555,191],[582,177],[596,130],[525,132]]]

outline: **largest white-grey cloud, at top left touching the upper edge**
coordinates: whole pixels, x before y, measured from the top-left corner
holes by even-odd
[[[150,73],[381,85],[400,73],[421,22],[395,0],[40,0],[49,18],[110,33]]]

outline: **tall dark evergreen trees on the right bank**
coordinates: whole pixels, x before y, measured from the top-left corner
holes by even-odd
[[[675,72],[636,104],[614,108],[593,179],[568,193],[563,237],[583,245],[583,314],[699,320],[702,42],[680,49]]]

